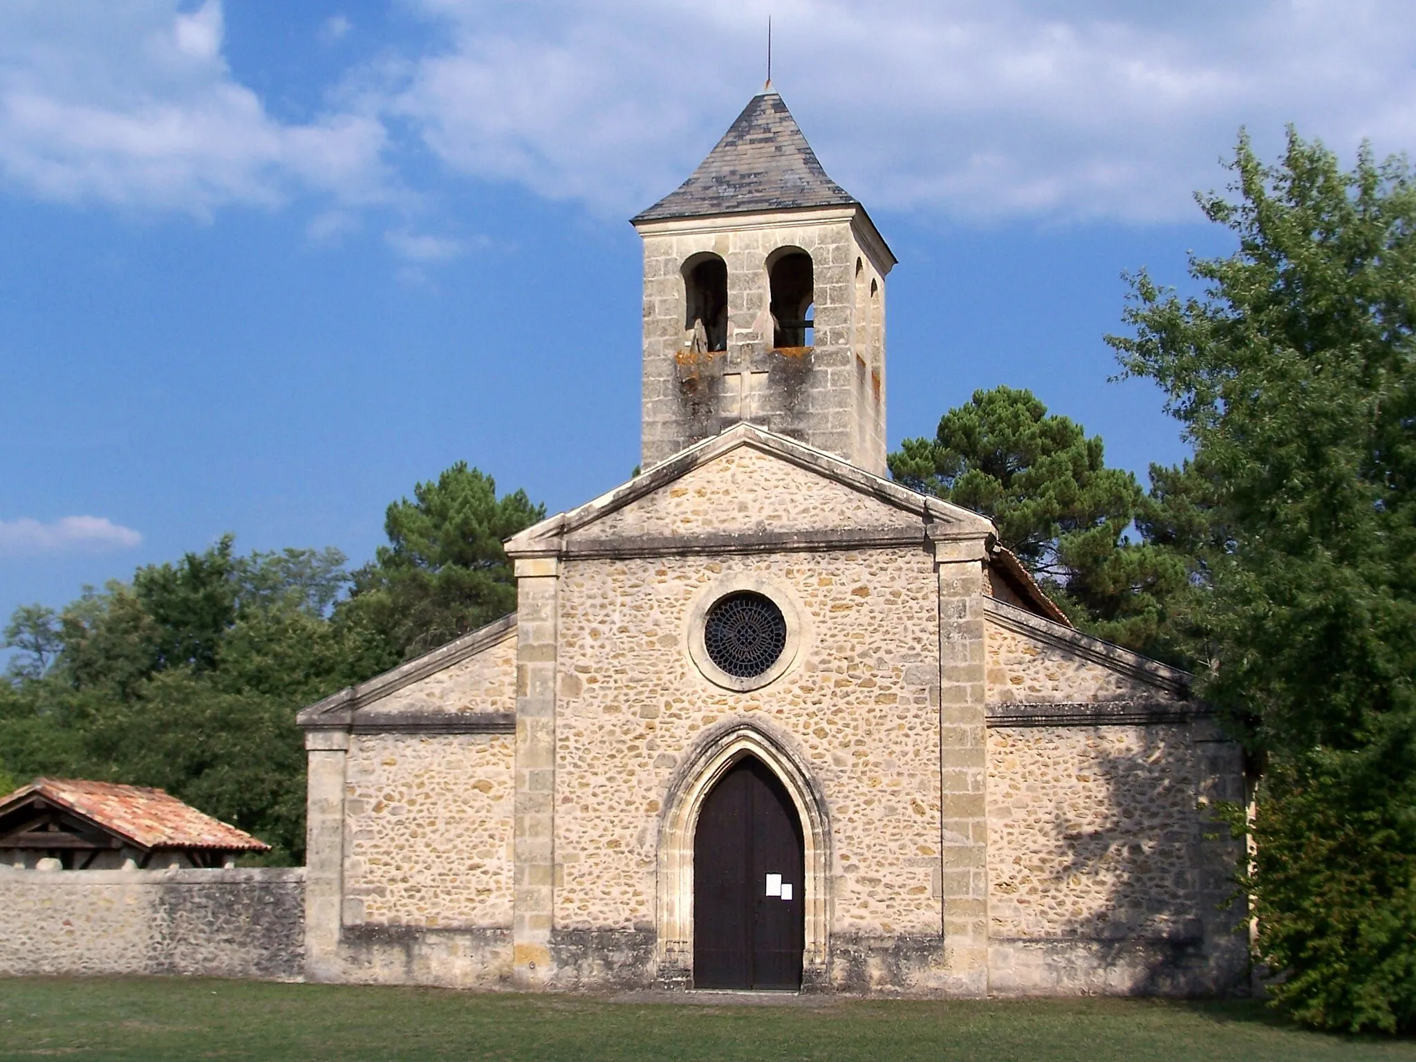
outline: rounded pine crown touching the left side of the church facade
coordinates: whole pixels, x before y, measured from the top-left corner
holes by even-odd
[[[544,517],[525,491],[498,498],[496,480],[457,462],[388,507],[388,545],[355,572],[346,612],[406,657],[491,623],[517,602],[501,542]]]

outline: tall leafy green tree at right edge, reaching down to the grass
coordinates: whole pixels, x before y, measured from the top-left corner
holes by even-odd
[[[1199,197],[1238,251],[1192,259],[1202,297],[1146,273],[1110,337],[1195,447],[1209,592],[1202,691],[1269,760],[1259,956],[1325,1028],[1416,1028],[1416,190],[1364,149],[1344,171],[1290,130],[1247,139],[1233,198]],[[1182,508],[1182,507],[1181,507]]]

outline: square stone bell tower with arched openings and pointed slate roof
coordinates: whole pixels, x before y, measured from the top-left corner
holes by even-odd
[[[647,467],[750,421],[885,474],[895,255],[782,96],[753,96],[644,241]]]

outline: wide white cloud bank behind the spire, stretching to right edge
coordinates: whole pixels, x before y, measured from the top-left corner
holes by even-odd
[[[394,93],[456,170],[626,212],[775,75],[828,173],[954,218],[1194,217],[1240,125],[1416,133],[1409,0],[419,0],[449,47]]]

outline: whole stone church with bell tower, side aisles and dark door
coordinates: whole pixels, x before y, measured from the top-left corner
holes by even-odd
[[[644,248],[643,472],[517,610],[299,714],[306,977],[1216,994],[1240,749],[886,477],[895,265],[769,88]]]

